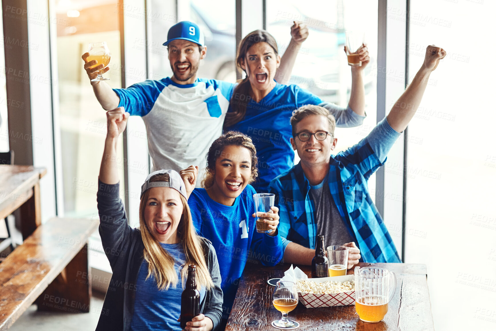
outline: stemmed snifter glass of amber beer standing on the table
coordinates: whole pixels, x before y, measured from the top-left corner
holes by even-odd
[[[298,322],[288,320],[288,313],[298,305],[298,292],[296,283],[289,280],[279,280],[272,294],[272,302],[275,309],[282,313],[282,318],[272,322],[275,328],[294,328],[298,327]]]

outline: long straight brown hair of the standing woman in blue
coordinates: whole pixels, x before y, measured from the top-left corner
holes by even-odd
[[[278,55],[276,40],[270,33],[265,30],[252,31],[243,38],[238,47],[238,53],[236,54],[236,67],[238,70],[243,70],[247,73],[241,65],[244,64],[245,66],[248,66],[246,59],[248,49],[255,44],[263,42],[272,47],[275,56]],[[269,77],[267,77],[267,79],[269,79]],[[249,83],[248,74],[245,79],[238,82],[239,84],[234,89],[233,96],[231,97],[231,110],[226,114],[226,118],[224,119],[224,128],[230,127],[243,120],[247,112],[247,105],[251,100],[251,84]]]

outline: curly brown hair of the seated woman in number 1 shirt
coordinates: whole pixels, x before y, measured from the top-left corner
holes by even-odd
[[[214,185],[215,164],[217,163],[217,158],[223,157],[224,148],[226,148],[226,146],[241,146],[247,148],[251,156],[251,176],[249,178],[249,183],[252,183],[256,176],[258,176],[256,167],[258,158],[256,157],[256,149],[253,141],[251,141],[251,138],[246,134],[237,131],[228,131],[215,139],[208,149],[207,173],[202,183],[202,186],[205,189],[209,189]]]

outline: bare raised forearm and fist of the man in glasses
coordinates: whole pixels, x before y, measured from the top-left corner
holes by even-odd
[[[434,45],[427,47],[424,64],[387,115],[387,123],[396,132],[403,132],[408,126],[422,101],[431,72],[445,56],[442,48]]]

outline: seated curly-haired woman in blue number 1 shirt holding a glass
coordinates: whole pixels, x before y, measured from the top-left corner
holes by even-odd
[[[195,189],[197,172],[197,166],[190,166],[180,173],[190,194],[188,204],[196,231],[212,242],[219,256],[225,325],[247,260],[272,266],[282,259],[279,209],[273,206],[271,212],[256,215],[271,233],[255,231],[256,192],[249,183],[257,176],[257,157],[253,142],[243,133],[226,132],[212,143],[207,154],[205,189]]]

